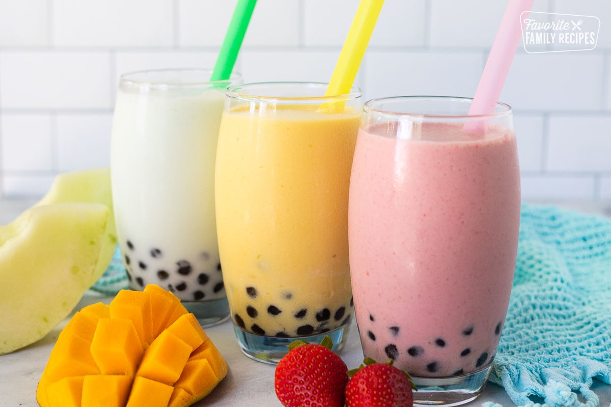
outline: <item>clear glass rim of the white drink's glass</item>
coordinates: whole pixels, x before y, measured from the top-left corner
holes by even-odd
[[[144,74],[163,74],[163,73],[201,73],[205,74],[202,77],[210,78],[212,74],[211,68],[159,68],[159,69],[146,69],[146,70],[137,70],[137,71],[129,71],[120,74],[119,82],[124,85],[132,85],[136,87],[191,87],[191,86],[210,86],[210,85],[222,85],[228,84],[236,79],[241,79],[242,75],[239,72],[233,71],[229,79],[219,79],[218,81],[169,81],[169,80],[150,80],[150,79],[138,79],[139,76],[143,76]]]

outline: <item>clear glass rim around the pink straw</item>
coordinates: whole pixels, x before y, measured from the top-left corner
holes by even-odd
[[[461,103],[472,103],[473,98],[467,98],[465,96],[436,96],[436,95],[410,95],[410,96],[389,96],[385,98],[375,98],[370,99],[363,105],[363,112],[369,114],[375,114],[382,117],[397,117],[397,118],[412,118],[412,119],[441,119],[441,120],[472,120],[474,118],[477,119],[492,119],[492,118],[500,118],[505,116],[511,116],[513,113],[512,107],[503,102],[497,102],[495,107],[501,107],[502,109],[499,112],[485,113],[480,115],[468,115],[468,114],[428,114],[428,113],[416,113],[416,112],[395,112],[392,110],[386,109],[376,109],[373,107],[376,103],[381,102],[389,102],[389,101],[401,101],[401,100],[428,100],[428,101],[436,101],[436,100],[446,100],[453,102],[461,102]]]

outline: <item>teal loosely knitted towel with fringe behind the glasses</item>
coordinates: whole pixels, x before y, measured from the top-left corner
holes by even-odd
[[[92,289],[116,294],[127,287],[117,248]],[[611,220],[523,204],[516,274],[490,380],[519,406],[538,407],[529,397],[540,397],[546,407],[596,407],[593,378],[611,384]]]

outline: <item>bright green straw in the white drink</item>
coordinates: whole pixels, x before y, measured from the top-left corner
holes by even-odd
[[[229,23],[229,29],[225,34],[225,40],[216,59],[216,65],[212,71],[210,81],[224,81],[229,79],[233,71],[235,60],[238,59],[238,52],[244,40],[244,34],[251,21],[252,12],[255,9],[257,0],[239,0],[235,6],[235,11]]]

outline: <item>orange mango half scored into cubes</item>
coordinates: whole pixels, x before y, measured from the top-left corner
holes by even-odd
[[[38,382],[41,407],[186,407],[227,362],[174,294],[149,284],[76,312]]]

